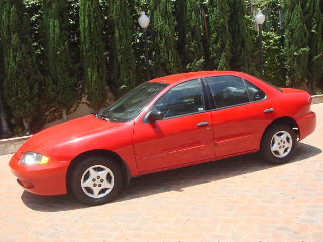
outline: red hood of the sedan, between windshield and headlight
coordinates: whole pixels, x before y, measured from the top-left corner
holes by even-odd
[[[109,122],[96,118],[93,115],[88,115],[40,131],[30,137],[20,147],[19,151],[23,153],[27,151],[41,152],[41,150],[57,143],[100,130],[117,127],[122,124],[123,123]]]

